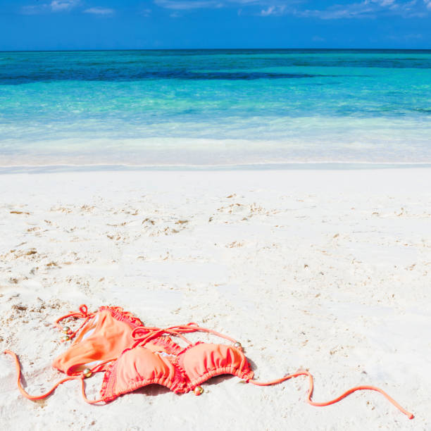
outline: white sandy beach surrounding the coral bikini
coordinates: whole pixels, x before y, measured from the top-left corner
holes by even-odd
[[[370,384],[416,415],[375,392],[308,406],[304,377],[107,406],[67,382],[36,403],[1,355],[1,428],[430,430],[430,185],[430,169],[0,175],[0,348],[30,393],[61,377],[51,323],[85,303],[225,332],[260,380],[309,368],[316,401]]]

